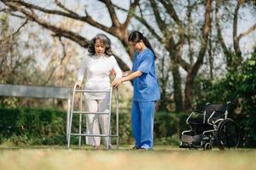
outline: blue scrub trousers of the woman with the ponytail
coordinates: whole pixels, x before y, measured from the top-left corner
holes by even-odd
[[[131,109],[132,134],[136,147],[153,149],[154,101],[133,101]]]

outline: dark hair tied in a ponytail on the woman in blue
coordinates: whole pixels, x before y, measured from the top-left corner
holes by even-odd
[[[152,51],[152,53],[154,54],[154,59],[156,59],[156,56],[155,56],[155,53],[154,53],[154,49],[152,48],[150,42],[148,41],[148,38],[143,36],[143,33],[139,32],[139,31],[131,32],[130,36],[128,37],[128,41],[129,42],[140,42],[140,41],[143,41],[145,46],[147,48],[149,48]]]

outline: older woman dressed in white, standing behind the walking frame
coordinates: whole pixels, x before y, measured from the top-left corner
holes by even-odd
[[[84,73],[86,73],[85,90],[109,90],[110,72],[114,71],[116,78],[122,77],[122,71],[119,69],[116,59],[113,57],[111,42],[104,34],[97,34],[90,41],[88,48],[89,55],[85,56],[84,63],[79,69],[77,87],[81,87]],[[85,110],[90,112],[108,112],[109,94],[85,93]],[[86,115],[86,133],[102,134],[108,133],[108,115],[89,114]],[[103,138],[107,144],[107,138]],[[90,144],[94,149],[100,149],[100,137],[86,137],[86,144]],[[111,144],[109,145],[111,149]]]

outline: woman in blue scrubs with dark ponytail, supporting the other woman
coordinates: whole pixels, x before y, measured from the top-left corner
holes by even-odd
[[[129,75],[112,82],[115,88],[120,83],[133,81],[133,102],[131,109],[132,134],[135,139],[133,149],[152,150],[154,145],[154,108],[160,99],[160,90],[154,71],[154,50],[148,39],[139,31],[129,36],[135,50],[132,71]]]

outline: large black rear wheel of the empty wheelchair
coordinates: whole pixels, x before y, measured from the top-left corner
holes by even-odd
[[[239,131],[236,122],[227,118],[218,124],[217,144],[219,150],[236,149],[239,144]]]

